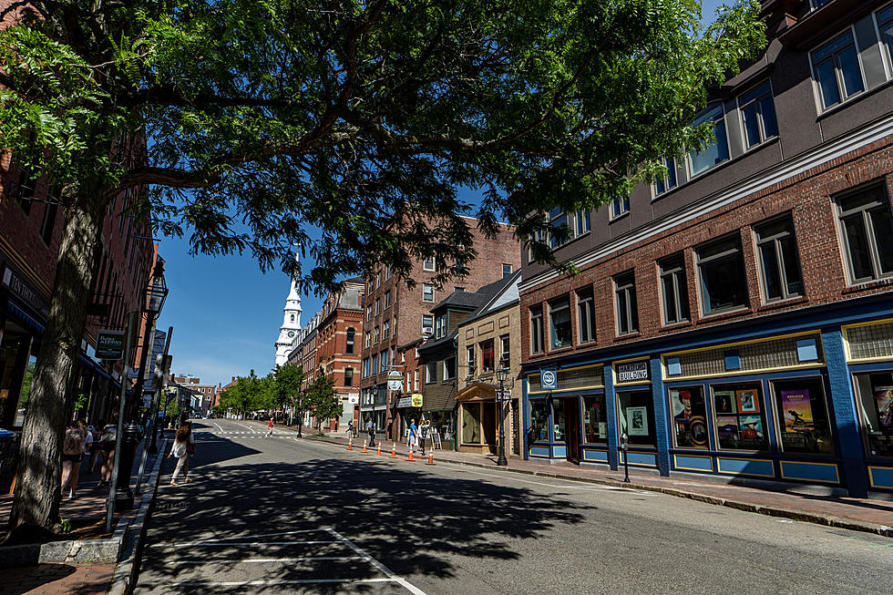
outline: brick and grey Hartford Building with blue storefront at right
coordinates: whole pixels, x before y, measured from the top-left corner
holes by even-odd
[[[554,246],[580,275],[522,254],[526,457],[893,492],[893,3],[813,6],[763,2],[716,142]]]

